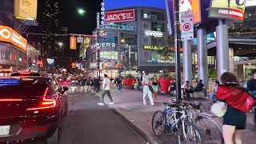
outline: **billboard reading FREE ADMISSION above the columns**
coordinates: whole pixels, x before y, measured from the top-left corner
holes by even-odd
[[[210,18],[230,18],[242,22],[246,9],[246,0],[212,0]]]

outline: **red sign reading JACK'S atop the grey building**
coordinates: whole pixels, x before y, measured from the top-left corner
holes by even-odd
[[[135,10],[108,11],[105,14],[106,22],[128,22],[135,21]]]

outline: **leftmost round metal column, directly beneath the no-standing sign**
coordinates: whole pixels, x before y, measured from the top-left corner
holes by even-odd
[[[183,74],[184,82],[192,82],[192,53],[191,53],[191,41],[183,41]]]

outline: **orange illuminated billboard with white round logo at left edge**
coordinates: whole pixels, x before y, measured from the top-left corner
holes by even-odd
[[[26,38],[8,26],[0,25],[0,42],[10,42],[20,50],[27,50]]]

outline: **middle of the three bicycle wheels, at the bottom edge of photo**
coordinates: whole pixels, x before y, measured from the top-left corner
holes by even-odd
[[[180,126],[178,128],[178,144],[202,144],[202,136],[200,134],[200,130],[194,123],[188,122],[184,120],[184,126],[182,126],[182,122],[180,122]]]

